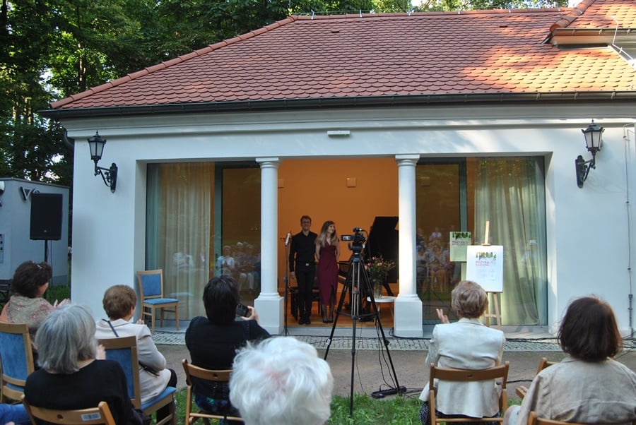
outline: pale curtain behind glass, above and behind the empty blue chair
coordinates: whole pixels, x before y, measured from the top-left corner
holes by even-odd
[[[148,268],[163,268],[165,296],[179,299],[182,319],[205,316],[213,176],[211,163],[148,166]]]

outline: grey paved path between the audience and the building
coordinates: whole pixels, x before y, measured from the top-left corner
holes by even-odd
[[[307,328],[300,328],[309,333]],[[293,332],[292,332],[293,333]],[[315,333],[315,332],[314,332]],[[326,335],[293,335],[318,349],[324,357],[329,333]],[[153,336],[158,348],[165,355],[168,367],[175,369],[179,376],[179,387],[185,385],[182,359],[189,359],[184,346],[183,332],[157,332]],[[421,389],[428,381],[428,368],[424,364],[429,338],[387,337],[389,350],[381,349],[384,345],[377,336],[361,332],[355,338],[355,356],[352,353],[353,331],[344,328],[338,330],[329,347],[327,362],[334,375],[335,393],[348,396],[351,391],[353,371],[353,390],[355,393],[371,394],[375,390],[394,387],[391,377],[396,376],[399,385],[404,385],[408,394],[418,397]],[[636,346],[633,341],[625,343],[626,349],[618,357],[618,361],[636,371]],[[390,357],[390,361],[389,361]],[[536,373],[541,357],[550,361],[563,358],[558,343],[553,337],[516,338],[507,334],[504,359],[510,361],[508,376],[508,396],[517,398],[514,390],[519,385],[529,385]],[[391,362],[393,368],[391,368]],[[392,370],[395,373],[392,373]]]

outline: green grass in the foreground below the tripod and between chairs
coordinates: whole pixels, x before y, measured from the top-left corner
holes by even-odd
[[[177,425],[185,424],[186,389],[177,391]],[[353,396],[353,416],[349,417],[349,397],[336,396],[331,402],[331,418],[327,424],[411,425],[420,424],[420,400],[417,397],[391,397],[375,400],[368,395]],[[214,423],[214,421],[211,421]],[[203,423],[203,422],[201,422]]]

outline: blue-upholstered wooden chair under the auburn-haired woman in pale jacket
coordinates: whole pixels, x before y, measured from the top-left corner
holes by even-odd
[[[170,414],[157,421],[156,425],[176,424],[175,393],[177,388],[167,387],[153,400],[141,403],[141,385],[139,385],[139,361],[137,359],[136,337],[105,338],[98,341],[106,349],[106,359],[117,361],[126,374],[128,395],[134,407],[147,414],[157,412],[164,406],[170,407]]]

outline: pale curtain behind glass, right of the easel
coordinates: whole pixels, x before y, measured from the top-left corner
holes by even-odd
[[[541,158],[480,158],[475,179],[476,244],[504,249],[504,325],[547,321],[546,196]],[[470,180],[470,179],[469,179]]]

